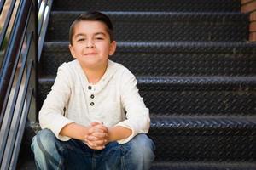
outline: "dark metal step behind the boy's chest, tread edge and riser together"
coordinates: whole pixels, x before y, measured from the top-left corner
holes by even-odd
[[[39,79],[38,108],[55,77]],[[151,115],[253,116],[256,77],[137,77]]]

